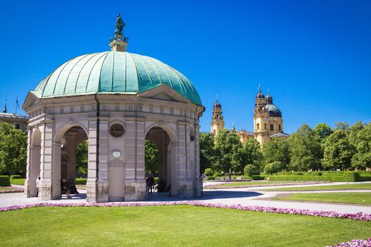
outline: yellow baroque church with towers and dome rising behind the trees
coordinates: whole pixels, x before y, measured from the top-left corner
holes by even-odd
[[[235,126],[232,126],[234,131],[242,143],[245,143],[249,138],[255,138],[261,147],[271,138],[288,138],[290,135],[283,132],[283,120],[281,110],[273,104],[273,97],[267,93],[266,97],[261,92],[260,87],[255,97],[254,108],[254,131],[246,131],[243,128],[237,131]],[[223,112],[221,104],[216,102],[213,104],[213,116],[211,117],[211,133],[218,135],[219,131],[225,128]]]

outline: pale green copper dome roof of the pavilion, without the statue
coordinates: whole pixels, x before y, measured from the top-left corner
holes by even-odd
[[[157,59],[129,52],[100,52],[66,61],[35,88],[41,98],[92,93],[136,94],[168,85],[194,104],[199,93],[182,73]]]

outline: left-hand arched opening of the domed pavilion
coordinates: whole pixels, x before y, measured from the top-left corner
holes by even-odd
[[[61,195],[78,195],[78,187],[84,184],[88,176],[88,135],[83,128],[73,126],[64,133],[60,159]]]

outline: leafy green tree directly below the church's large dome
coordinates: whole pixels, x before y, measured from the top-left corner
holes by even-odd
[[[279,161],[283,169],[290,164],[289,142],[283,138],[272,138],[263,145],[264,165]]]

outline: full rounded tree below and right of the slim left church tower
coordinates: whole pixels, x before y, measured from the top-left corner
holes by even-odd
[[[215,147],[217,155],[216,165],[220,171],[226,173],[229,171],[243,172],[244,167],[240,153],[242,143],[236,133],[228,129],[219,131],[218,135],[216,135]]]

